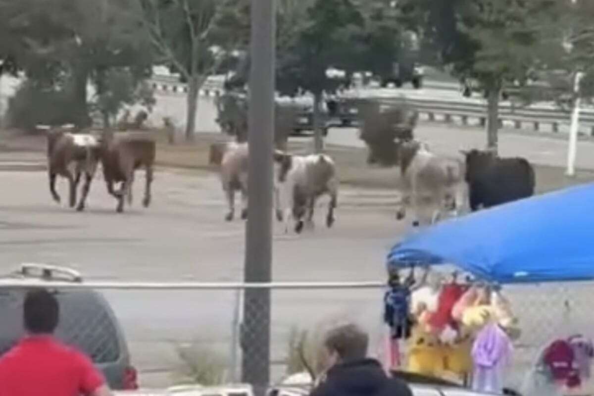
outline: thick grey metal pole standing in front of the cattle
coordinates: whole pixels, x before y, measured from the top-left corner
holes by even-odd
[[[271,280],[275,1],[251,1],[246,282]],[[245,290],[241,339],[242,381],[254,387],[255,395],[263,396],[270,375],[270,290]]]

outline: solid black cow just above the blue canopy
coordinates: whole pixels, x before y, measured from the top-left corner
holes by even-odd
[[[463,151],[470,210],[489,208],[534,195],[535,175],[523,158],[500,158],[492,151]]]

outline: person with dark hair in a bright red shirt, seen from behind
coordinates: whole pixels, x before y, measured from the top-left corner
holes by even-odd
[[[44,289],[25,296],[27,335],[0,357],[0,396],[111,396],[102,373],[83,353],[53,337],[58,300]]]

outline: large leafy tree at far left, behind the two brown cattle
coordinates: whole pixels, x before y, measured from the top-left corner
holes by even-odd
[[[86,126],[91,77],[102,93],[110,68],[128,68],[137,81],[150,75],[144,31],[129,18],[133,5],[134,0],[2,2],[13,43],[4,54],[39,88],[68,90],[72,121]]]

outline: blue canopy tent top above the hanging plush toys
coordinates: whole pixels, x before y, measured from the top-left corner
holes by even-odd
[[[499,284],[594,280],[594,183],[443,221],[388,254],[388,266],[438,264]]]

